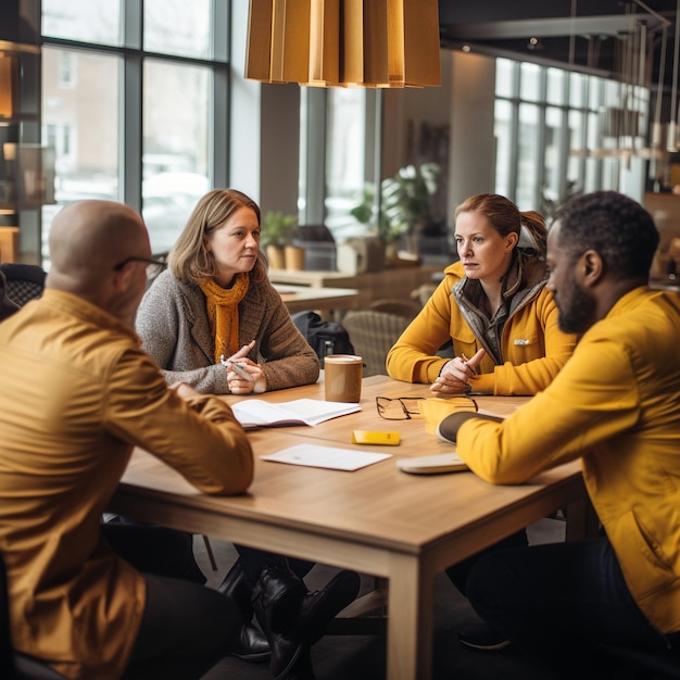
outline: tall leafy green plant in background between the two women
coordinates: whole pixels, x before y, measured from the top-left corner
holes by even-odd
[[[423,163],[417,167],[406,165],[393,177],[383,179],[380,182],[380,211],[375,221],[375,186],[365,185],[361,203],[350,214],[362,224],[375,222],[388,260],[389,251],[396,250],[402,236],[406,237],[408,250],[417,252],[417,236],[432,218],[430,197],[439,189],[439,175],[437,163]]]

